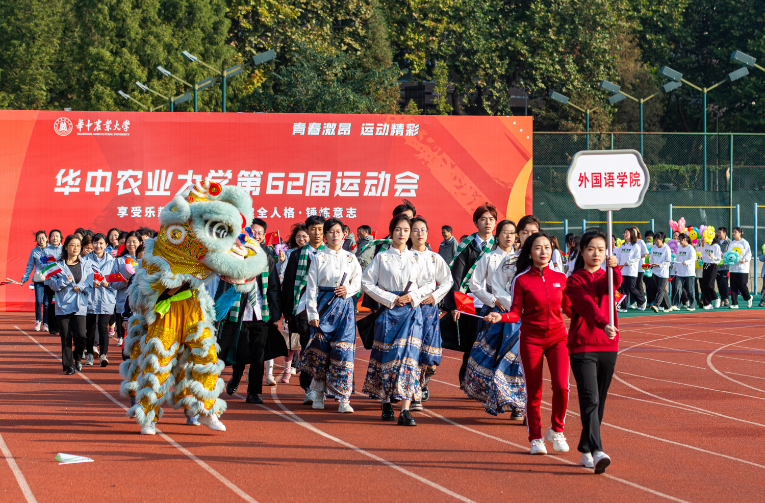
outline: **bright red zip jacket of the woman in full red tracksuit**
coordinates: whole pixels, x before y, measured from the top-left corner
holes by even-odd
[[[513,278],[513,305],[502,315],[503,322],[521,320],[521,333],[552,338],[566,335],[561,305],[566,275],[549,267],[530,267]]]

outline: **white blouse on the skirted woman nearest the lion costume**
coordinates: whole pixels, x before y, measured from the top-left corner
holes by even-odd
[[[361,290],[361,265],[356,256],[346,250],[324,248],[316,253],[308,267],[308,283],[305,285],[308,321],[319,319],[318,299],[320,286],[342,286],[340,279],[347,274],[343,285],[346,293],[343,299],[355,296]]]

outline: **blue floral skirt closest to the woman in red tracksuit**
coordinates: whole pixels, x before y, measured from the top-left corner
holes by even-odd
[[[480,315],[499,311],[496,307],[484,305]],[[492,324],[483,323],[482,320],[470,351],[464,391],[468,397],[483,402],[483,410],[493,416],[503,413],[507,405],[519,409],[526,407],[526,381],[523,379],[518,354],[520,326],[520,322]],[[496,355],[508,348],[502,360],[495,364]]]

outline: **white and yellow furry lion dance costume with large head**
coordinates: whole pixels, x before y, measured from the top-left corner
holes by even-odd
[[[120,393],[132,397],[128,416],[141,433],[155,433],[165,400],[213,430],[226,429],[218,420],[226,402],[219,398],[224,364],[215,305],[203,286],[218,275],[239,292],[252,289],[267,266],[248,226],[253,216],[246,191],[210,181],[162,208],[159,234],[145,241],[128,289],[133,315],[122,351],[129,359],[119,366]]]

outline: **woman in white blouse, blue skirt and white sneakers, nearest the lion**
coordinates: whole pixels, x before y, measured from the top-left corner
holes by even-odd
[[[353,297],[361,290],[361,266],[343,250],[343,222],[324,222],[327,245],[314,256],[305,286],[311,339],[298,371],[311,374],[311,407],[324,409],[325,390],[340,400],[337,412],[352,413],[353,361],[356,356],[356,310]],[[286,367],[286,364],[285,364]]]

